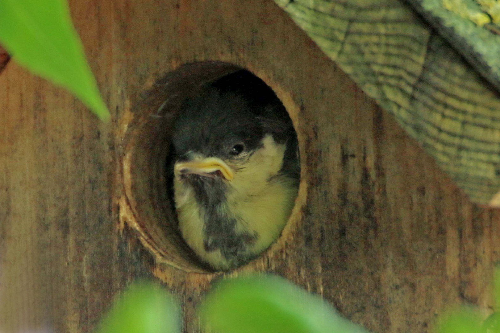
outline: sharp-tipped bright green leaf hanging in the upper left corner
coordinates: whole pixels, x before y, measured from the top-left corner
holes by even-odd
[[[66,0],[0,0],[0,43],[19,64],[109,119]]]

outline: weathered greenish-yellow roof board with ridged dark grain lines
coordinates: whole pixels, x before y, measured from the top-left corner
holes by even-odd
[[[500,98],[402,0],[275,0],[480,204],[500,190]]]

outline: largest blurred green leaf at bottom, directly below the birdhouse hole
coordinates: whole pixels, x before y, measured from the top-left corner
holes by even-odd
[[[247,277],[217,284],[200,308],[217,333],[365,333],[321,298],[278,277]]]

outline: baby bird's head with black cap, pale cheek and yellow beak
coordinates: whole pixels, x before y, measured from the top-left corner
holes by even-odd
[[[176,118],[174,176],[214,186],[231,186],[243,174],[268,178],[282,167],[290,130],[282,105],[209,87]],[[267,169],[249,170],[259,167]]]

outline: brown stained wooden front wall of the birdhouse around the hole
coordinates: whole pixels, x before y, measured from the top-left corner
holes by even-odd
[[[279,274],[373,332],[427,332],[470,302],[491,312],[500,213],[471,204],[271,1],[69,1],[112,122],[14,62],[0,76],[0,327],[91,332],[137,277],[178,295],[184,332],[214,274],[155,257],[122,222],[133,106],[180,64],[223,60],[273,87],[302,180],[283,236],[238,272]],[[149,111],[148,111],[149,112]],[[120,219],[121,217],[121,219]]]

